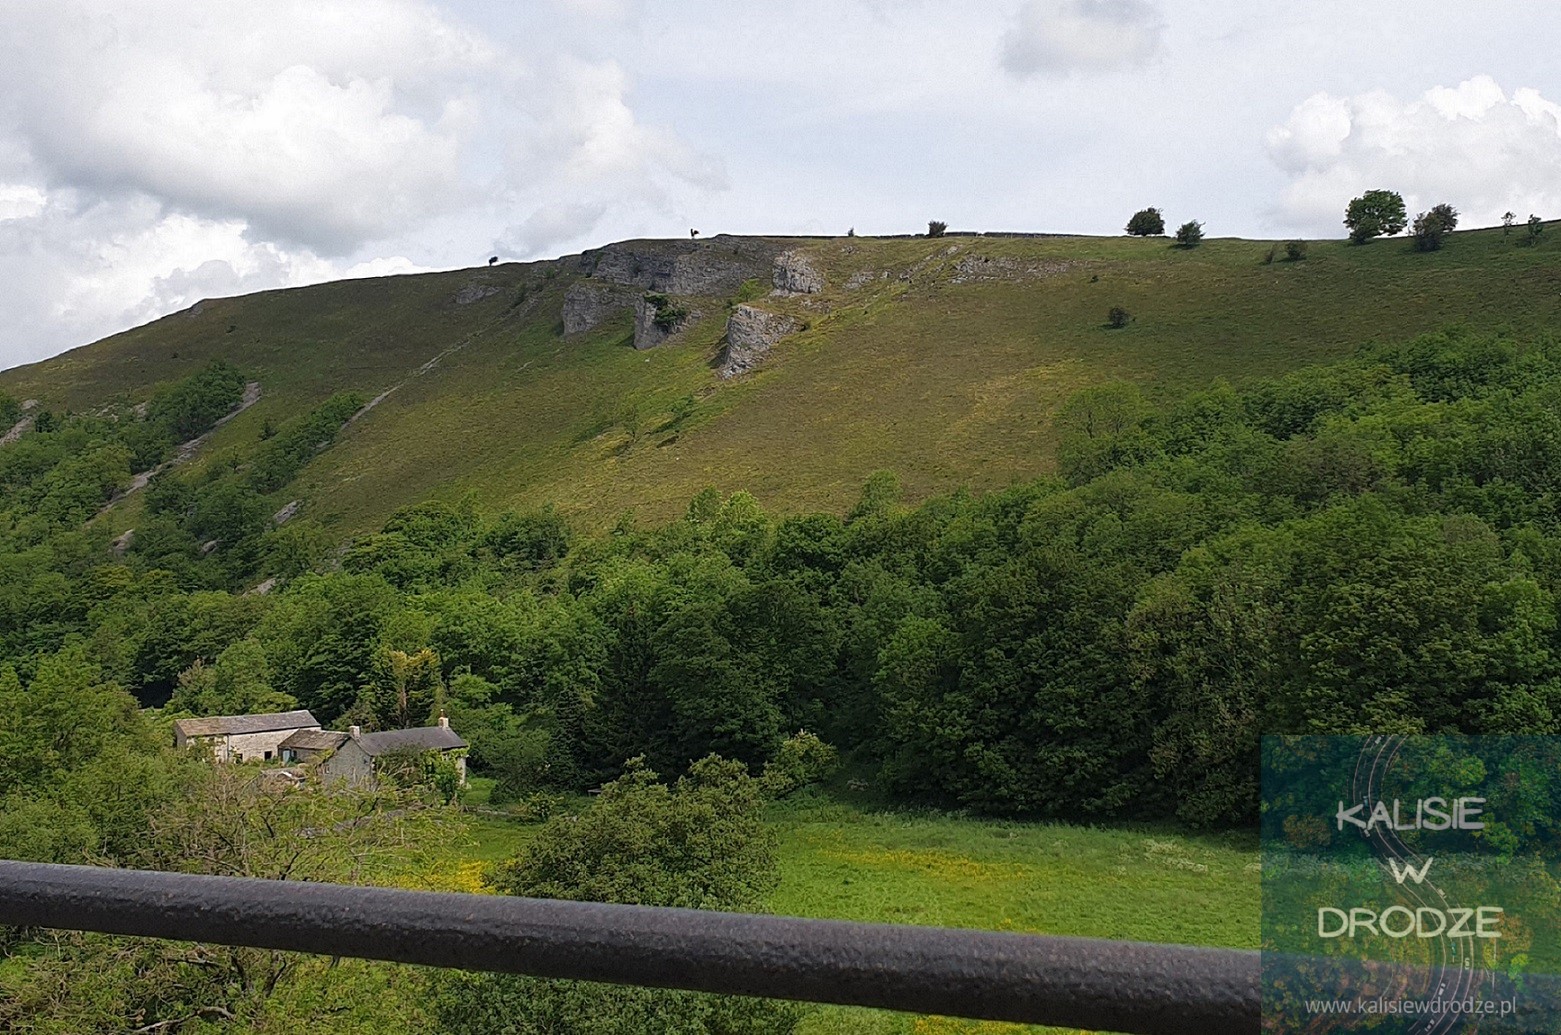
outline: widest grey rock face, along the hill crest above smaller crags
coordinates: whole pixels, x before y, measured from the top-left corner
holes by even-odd
[[[599,281],[668,295],[731,295],[743,281],[763,276],[780,245],[727,237],[709,240],[624,240],[582,256]]]

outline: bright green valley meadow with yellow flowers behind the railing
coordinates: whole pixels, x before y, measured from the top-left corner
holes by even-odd
[[[539,827],[465,820],[431,884],[481,890],[492,862]],[[788,916],[982,927],[1230,948],[1258,944],[1258,862],[1250,835],[1074,827],[946,813],[873,812],[829,798],[776,807]],[[1041,1032],[879,1010],[810,1007],[802,1035]]]

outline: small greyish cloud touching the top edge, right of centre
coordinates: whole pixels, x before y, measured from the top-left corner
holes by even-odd
[[[1002,37],[1002,66],[1018,78],[1140,66],[1161,30],[1149,0],[1029,0]]]

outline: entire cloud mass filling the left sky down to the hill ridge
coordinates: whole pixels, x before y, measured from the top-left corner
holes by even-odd
[[[0,0],[0,368],[201,297],[481,262],[510,223],[532,258],[724,183],[615,61],[436,0]]]

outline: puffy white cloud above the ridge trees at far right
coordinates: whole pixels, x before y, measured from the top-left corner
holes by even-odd
[[[1488,75],[1410,101],[1316,94],[1269,131],[1268,148],[1289,175],[1282,219],[1307,233],[1342,234],[1344,206],[1375,187],[1403,194],[1411,215],[1447,201],[1466,226],[1508,209],[1561,214],[1561,106],[1534,89],[1508,95]]]

